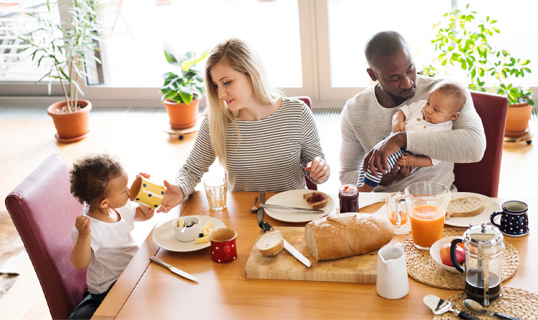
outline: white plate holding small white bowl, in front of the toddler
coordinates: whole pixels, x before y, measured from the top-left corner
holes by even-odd
[[[200,218],[201,225],[205,225],[208,220],[211,220],[211,228],[226,228],[226,225],[221,220],[217,218],[208,217],[207,215],[195,215],[195,217]],[[209,247],[211,242],[196,243],[193,241],[181,242],[177,240],[176,233],[174,232],[174,220],[169,220],[167,223],[159,225],[159,228],[155,229],[153,232],[153,242],[159,247],[169,251],[175,252],[190,252],[204,249],[204,247]]]

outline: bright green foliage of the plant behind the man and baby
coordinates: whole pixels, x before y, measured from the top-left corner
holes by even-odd
[[[523,78],[531,73],[527,67],[530,60],[514,58],[510,51],[491,46],[491,39],[500,33],[495,27],[497,20],[487,16],[485,21],[475,21],[476,11],[453,9],[443,15],[434,26],[435,38],[431,41],[439,55],[431,65],[424,68],[426,75],[439,74],[450,65],[460,65],[470,80],[469,88],[482,92],[505,95],[510,105],[527,102],[532,91],[510,83],[513,78]],[[492,85],[486,87],[486,85]]]

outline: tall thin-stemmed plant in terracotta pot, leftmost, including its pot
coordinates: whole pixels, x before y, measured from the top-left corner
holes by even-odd
[[[36,30],[21,37],[31,52],[31,58],[39,67],[46,65],[46,73],[38,82],[48,81],[48,94],[51,95],[53,81],[60,82],[65,100],[48,107],[48,114],[56,126],[56,139],[59,142],[75,142],[84,139],[89,129],[89,112],[92,105],[88,100],[79,99],[78,92],[84,95],[79,81],[86,75],[87,59],[97,59],[94,41],[100,33],[100,5],[95,0],[73,0],[66,8],[70,21],[62,23],[53,17],[58,11],[58,1],[46,1],[47,14],[29,14],[36,21]]]

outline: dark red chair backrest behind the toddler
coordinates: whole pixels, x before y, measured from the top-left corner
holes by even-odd
[[[83,299],[86,270],[70,255],[71,231],[83,209],[70,193],[68,164],[52,154],[6,197],[26,252],[36,270],[53,319],[67,319]]]

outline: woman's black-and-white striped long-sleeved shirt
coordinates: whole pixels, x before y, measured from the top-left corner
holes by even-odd
[[[281,192],[305,188],[302,168],[315,156],[325,159],[315,119],[300,100],[283,97],[280,108],[269,117],[258,121],[236,119],[236,123],[238,131],[230,124],[226,139],[226,175],[231,191]],[[176,185],[185,198],[215,159],[206,118],[191,154],[176,176]]]

